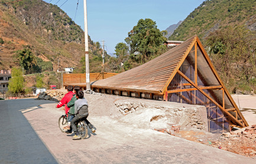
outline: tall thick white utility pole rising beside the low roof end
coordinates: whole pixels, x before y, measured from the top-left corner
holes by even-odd
[[[90,90],[89,45],[88,45],[88,25],[87,25],[86,0],[83,0],[83,14],[84,14],[84,18],[85,18],[85,73],[86,73],[86,90]]]

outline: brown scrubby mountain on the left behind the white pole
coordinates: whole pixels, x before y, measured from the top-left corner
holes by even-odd
[[[77,67],[85,55],[84,32],[80,26],[57,5],[41,0],[1,1],[0,40],[0,69],[17,65],[12,56],[24,48],[29,48],[41,60],[50,61],[53,70],[58,65],[59,68]],[[90,37],[89,54],[90,59],[102,54]]]

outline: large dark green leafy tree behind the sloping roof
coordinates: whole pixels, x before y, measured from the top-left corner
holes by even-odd
[[[158,51],[166,50],[163,43],[167,39],[163,34],[166,34],[166,31],[160,31],[153,20],[140,19],[138,24],[128,32],[125,42],[130,46],[131,54],[136,51],[142,54],[141,62],[145,63],[149,57],[157,55]]]

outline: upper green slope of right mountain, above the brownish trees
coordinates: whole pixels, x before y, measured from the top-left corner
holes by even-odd
[[[206,38],[210,32],[228,26],[246,25],[256,30],[255,0],[208,0],[204,1],[168,38],[169,40],[186,40],[197,34]]]

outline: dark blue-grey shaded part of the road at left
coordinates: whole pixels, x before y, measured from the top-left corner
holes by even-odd
[[[20,111],[43,103],[53,102],[31,99],[0,101],[0,163],[57,163]]]

